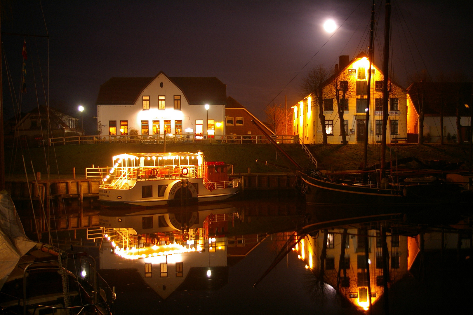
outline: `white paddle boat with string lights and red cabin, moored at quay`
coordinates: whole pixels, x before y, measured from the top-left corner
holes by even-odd
[[[201,152],[124,153],[114,156],[113,163],[112,168],[94,170],[103,180],[98,200],[104,205],[220,201],[239,188],[239,179],[228,179],[228,164],[205,162]]]

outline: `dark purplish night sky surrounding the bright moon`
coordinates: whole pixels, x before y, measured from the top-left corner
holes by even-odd
[[[371,11],[370,0],[43,1],[42,5],[50,36],[51,105],[64,102],[64,111],[77,114],[82,104],[88,133],[96,124],[92,117],[101,84],[110,77],[153,77],[161,70],[171,77],[218,77],[227,84],[227,95],[255,115],[273,99],[284,104],[285,95],[292,106],[300,100],[301,77],[308,68],[317,64],[333,68],[339,55],[351,59],[367,50]],[[5,11],[2,32],[46,34],[39,1],[14,1]],[[399,83],[407,87],[408,77],[423,69],[432,77],[462,71],[471,80],[472,13],[471,1],[393,0],[391,69]],[[374,62],[378,66],[384,14],[384,1],[377,1]],[[329,18],[342,25],[334,34],[322,27]],[[18,98],[23,37],[2,35],[2,40]],[[22,111],[44,103],[42,82],[47,90],[47,40],[26,37],[26,44],[27,94]],[[5,118],[9,118],[13,109],[5,69],[3,79]],[[259,118],[264,120],[264,113]]]

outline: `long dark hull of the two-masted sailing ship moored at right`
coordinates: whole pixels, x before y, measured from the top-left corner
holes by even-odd
[[[438,204],[458,203],[460,188],[451,184],[406,186],[402,191],[357,185],[343,185],[303,175],[307,204]]]

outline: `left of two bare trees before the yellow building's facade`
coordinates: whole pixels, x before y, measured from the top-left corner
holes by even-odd
[[[302,78],[301,92],[304,96],[313,95],[319,105],[319,119],[322,127],[323,143],[327,144],[327,131],[325,130],[324,98],[327,91],[324,91],[324,83],[329,76],[329,71],[323,65],[310,68]]]

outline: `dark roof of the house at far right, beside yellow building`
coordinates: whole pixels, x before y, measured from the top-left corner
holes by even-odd
[[[416,82],[407,88],[407,93],[417,113],[420,112],[419,100],[423,99],[424,115],[440,116],[442,111],[444,116],[456,116],[456,106],[460,105],[460,116],[470,116],[472,82]]]

